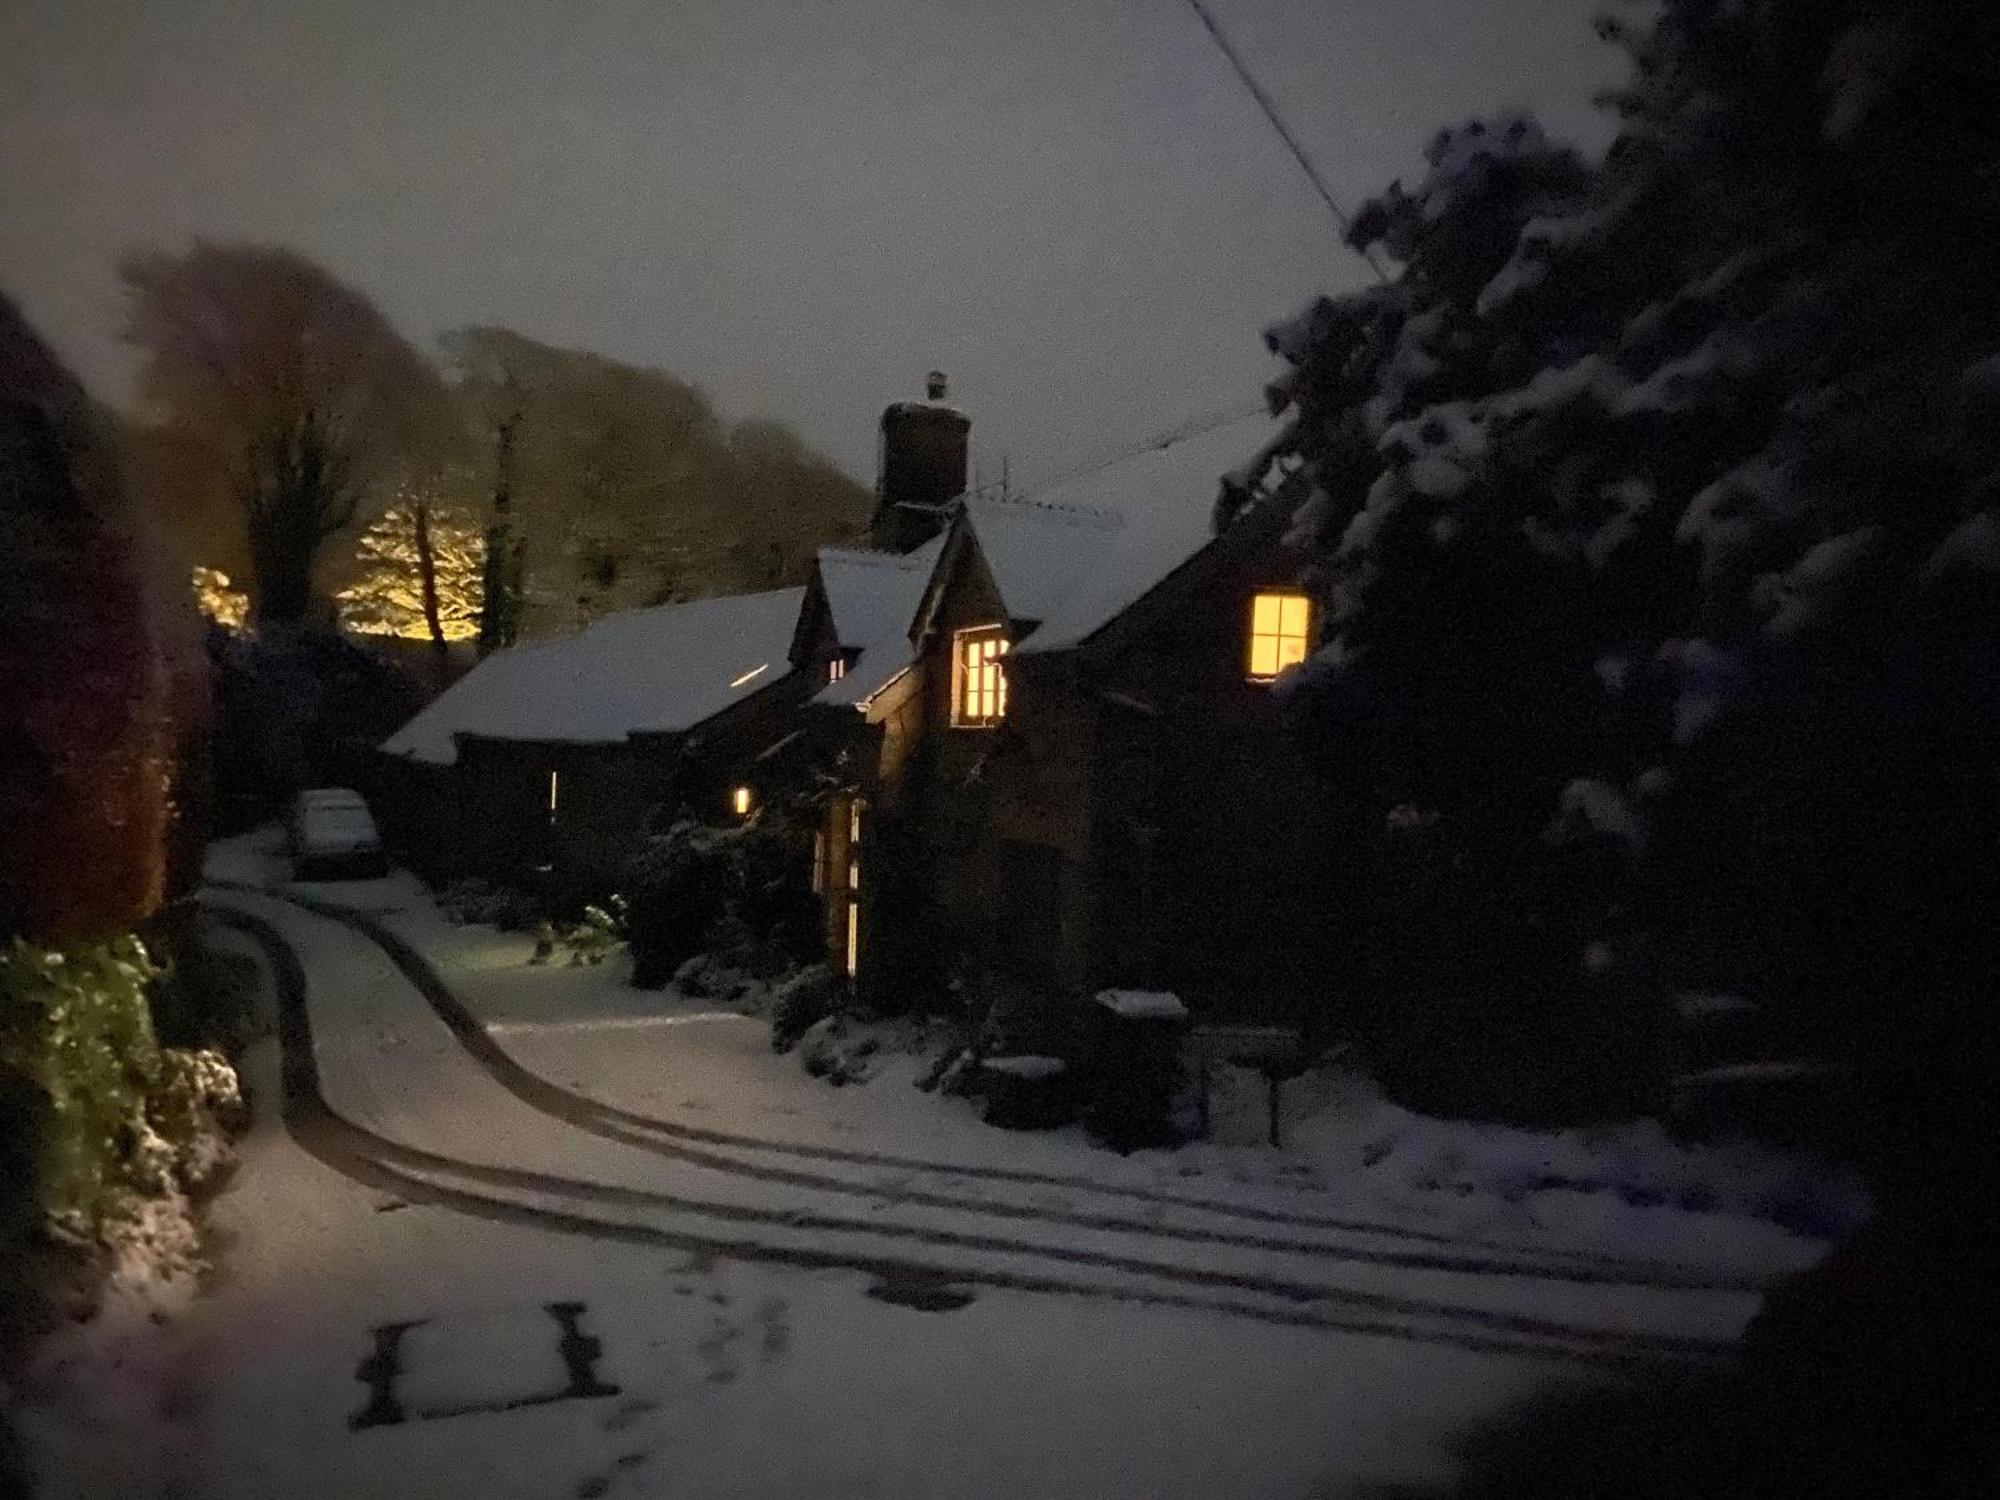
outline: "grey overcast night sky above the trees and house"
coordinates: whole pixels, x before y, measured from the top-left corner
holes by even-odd
[[[1212,0],[1346,202],[1474,112],[1600,146],[1600,6]],[[6,0],[0,288],[102,396],[118,252],[196,234],[864,480],[932,366],[1032,480],[1252,402],[1262,324],[1364,274],[1186,0]]]

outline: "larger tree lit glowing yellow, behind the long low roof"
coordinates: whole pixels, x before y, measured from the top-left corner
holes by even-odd
[[[358,558],[360,578],[334,596],[348,630],[430,640],[440,652],[478,636],[486,544],[472,518],[404,486],[362,532]]]

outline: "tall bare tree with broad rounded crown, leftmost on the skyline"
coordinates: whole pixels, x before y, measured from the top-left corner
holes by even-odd
[[[376,484],[436,462],[452,414],[430,364],[354,288],[302,256],[196,242],[120,266],[146,420],[226,492],[258,620],[306,616],[314,564]]]

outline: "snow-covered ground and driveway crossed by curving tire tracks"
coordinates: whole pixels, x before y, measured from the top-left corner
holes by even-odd
[[[282,878],[254,840],[212,870]],[[1728,1340],[1752,1272],[1820,1252],[1672,1202],[1564,1212],[1470,1158],[1468,1190],[1414,1186],[1458,1136],[1366,1096],[1288,1100],[1284,1154],[998,1132],[912,1054],[828,1088],[762,1022],[530,968],[408,878],[300,892],[450,994],[350,922],[216,892],[274,982],[296,956],[316,1094],[296,1030],[284,1090],[252,1050],[154,1446],[50,1494],[1342,1494],[1440,1476],[1552,1378]]]

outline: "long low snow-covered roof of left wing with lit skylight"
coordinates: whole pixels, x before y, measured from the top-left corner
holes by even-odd
[[[628,610],[574,636],[496,652],[382,748],[450,766],[454,734],[618,744],[694,728],[790,670],[804,594],[778,588]]]

